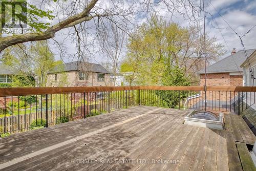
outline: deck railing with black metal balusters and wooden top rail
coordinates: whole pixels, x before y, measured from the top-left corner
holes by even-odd
[[[48,127],[129,106],[206,109],[240,114],[255,104],[256,87],[75,87],[0,89],[0,133]]]

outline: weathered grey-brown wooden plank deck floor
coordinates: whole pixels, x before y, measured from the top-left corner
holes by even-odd
[[[243,170],[236,142],[255,136],[184,125],[190,110],[137,106],[0,139],[2,170]]]

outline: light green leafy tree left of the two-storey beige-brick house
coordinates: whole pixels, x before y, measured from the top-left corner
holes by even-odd
[[[63,71],[62,61],[55,61],[47,41],[32,42],[30,46],[17,45],[6,49],[2,62],[14,68],[12,87],[45,87],[47,74],[58,67]],[[62,74],[60,86],[65,84],[67,76]]]

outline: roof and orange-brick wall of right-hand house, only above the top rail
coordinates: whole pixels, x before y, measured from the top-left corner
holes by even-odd
[[[246,50],[250,56],[256,49]],[[243,86],[243,69],[240,67],[245,61],[244,51],[231,54],[206,68],[206,86]],[[200,75],[200,86],[204,86],[204,69],[197,72]]]

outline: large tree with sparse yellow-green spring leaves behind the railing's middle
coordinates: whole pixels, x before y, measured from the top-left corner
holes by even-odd
[[[129,37],[121,72],[130,85],[162,85],[164,68],[179,66],[196,81],[196,71],[204,65],[202,36],[197,27],[166,23],[156,14]],[[207,60],[216,61],[224,53],[215,37],[206,36]]]

